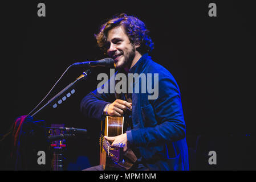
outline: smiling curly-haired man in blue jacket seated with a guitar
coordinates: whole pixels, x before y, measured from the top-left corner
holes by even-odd
[[[86,117],[99,120],[105,115],[131,113],[124,134],[105,137],[112,144],[123,143],[124,151],[134,152],[137,160],[131,170],[188,170],[180,90],[169,71],[148,55],[153,49],[148,32],[141,20],[120,14],[101,26],[96,39],[98,46],[115,61],[117,73],[157,73],[157,97],[149,99],[148,90],[142,93],[141,87],[139,93],[131,94],[99,93],[96,89],[83,98],[81,110]],[[143,82],[139,80],[137,84],[141,86]]]

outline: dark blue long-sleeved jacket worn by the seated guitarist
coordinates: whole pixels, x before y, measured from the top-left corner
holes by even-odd
[[[135,92],[136,83],[133,83],[133,129],[126,133],[131,147],[140,152],[140,163],[151,170],[188,170],[186,126],[177,82],[167,69],[152,61],[148,53],[137,61],[129,73],[152,73],[151,88],[154,88],[153,74],[159,75],[155,85],[159,88],[159,96],[154,100],[149,99],[148,96],[153,93],[148,93],[148,90],[141,93],[142,79],[137,82],[139,93]],[[83,98],[81,111],[88,118],[101,120],[105,105],[115,100],[116,94],[100,94],[96,89]]]

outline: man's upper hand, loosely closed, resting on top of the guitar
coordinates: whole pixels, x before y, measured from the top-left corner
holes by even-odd
[[[110,116],[121,116],[127,109],[132,110],[132,103],[117,99],[115,102],[105,107],[104,114],[107,113]]]

